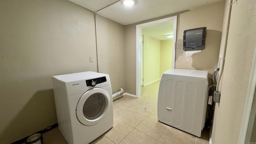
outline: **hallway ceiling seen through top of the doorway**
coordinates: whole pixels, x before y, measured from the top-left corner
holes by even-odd
[[[148,35],[157,40],[169,40],[167,35],[173,34],[174,20],[142,27],[142,35]]]

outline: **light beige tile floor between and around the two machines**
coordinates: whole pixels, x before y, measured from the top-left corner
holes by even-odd
[[[142,87],[142,96],[114,101],[114,126],[92,144],[209,144],[209,131],[201,138],[158,122],[159,81]],[[58,128],[43,134],[44,144],[67,144]]]

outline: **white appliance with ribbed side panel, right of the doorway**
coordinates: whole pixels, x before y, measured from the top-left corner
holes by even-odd
[[[164,72],[158,91],[158,120],[200,137],[206,116],[207,87],[207,71]]]

